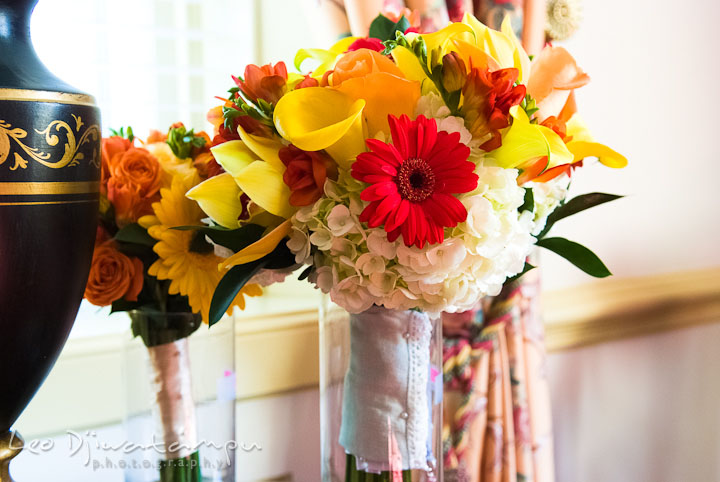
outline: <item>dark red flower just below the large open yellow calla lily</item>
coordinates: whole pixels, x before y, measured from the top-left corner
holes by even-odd
[[[283,181],[290,191],[290,205],[308,206],[322,196],[325,180],[337,179],[337,168],[332,159],[322,152],[303,151],[289,145],[278,152],[285,164]]]

